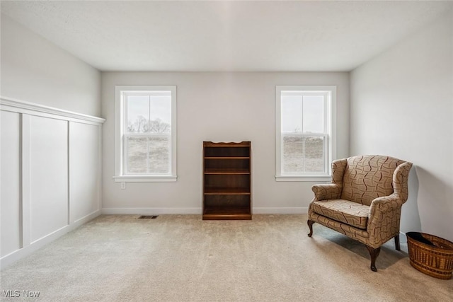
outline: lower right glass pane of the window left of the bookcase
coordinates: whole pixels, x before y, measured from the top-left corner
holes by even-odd
[[[149,138],[149,172],[170,173],[170,138]]]

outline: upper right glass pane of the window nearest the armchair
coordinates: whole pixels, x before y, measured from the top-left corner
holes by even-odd
[[[324,132],[324,96],[304,95],[304,133]]]

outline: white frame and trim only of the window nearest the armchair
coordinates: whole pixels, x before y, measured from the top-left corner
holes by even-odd
[[[327,119],[325,127],[327,134],[298,134],[301,137],[326,137],[324,140],[324,150],[327,152],[325,156],[326,173],[319,174],[295,174],[282,173],[282,92],[283,91],[302,91],[303,93],[316,95],[327,95],[326,110]],[[276,181],[310,181],[310,182],[327,182],[331,180],[331,162],[336,159],[336,86],[276,86],[275,89],[275,107],[276,107],[276,165],[275,165],[275,180]],[[326,146],[327,144],[327,146]]]

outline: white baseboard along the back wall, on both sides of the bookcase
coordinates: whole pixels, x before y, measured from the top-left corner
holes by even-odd
[[[276,208],[256,207],[252,214],[306,214],[308,207]],[[102,214],[108,215],[157,215],[157,214],[202,214],[201,208],[104,208]]]

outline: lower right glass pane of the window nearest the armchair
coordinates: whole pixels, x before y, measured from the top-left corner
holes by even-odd
[[[324,172],[324,138],[305,137],[305,173]]]

